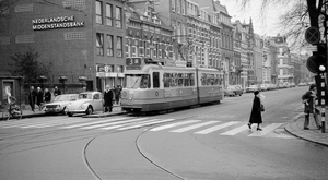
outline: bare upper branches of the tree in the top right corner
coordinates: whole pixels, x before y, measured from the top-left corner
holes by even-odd
[[[244,9],[250,3],[250,0],[241,1]],[[309,26],[318,27],[321,33],[321,40],[327,40],[328,0],[262,0],[259,12],[262,20],[265,20],[268,8],[286,3],[291,3],[292,9],[280,15],[279,25],[293,48],[304,48],[307,45],[304,34]]]

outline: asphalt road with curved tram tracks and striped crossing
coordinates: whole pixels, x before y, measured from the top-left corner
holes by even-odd
[[[1,121],[0,179],[327,179],[328,148],[283,130],[306,89],[263,92],[262,132],[246,125],[250,93],[163,115]]]

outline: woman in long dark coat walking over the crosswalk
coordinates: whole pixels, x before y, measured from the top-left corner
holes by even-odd
[[[262,131],[262,129],[260,128],[260,124],[262,123],[262,115],[261,115],[262,111],[265,111],[265,108],[262,105],[261,95],[260,95],[259,91],[255,91],[250,118],[249,118],[249,122],[247,124],[249,129],[251,129],[253,123],[257,123],[256,130]]]

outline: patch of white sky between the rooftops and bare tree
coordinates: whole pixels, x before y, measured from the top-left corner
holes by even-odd
[[[237,2],[239,1],[239,2]],[[239,20],[242,23],[249,23],[251,17],[254,32],[259,35],[276,36],[279,32],[277,23],[279,15],[286,10],[288,7],[272,5],[267,10],[265,19],[260,19],[260,5],[262,0],[250,0],[250,5],[247,5],[244,11],[241,10],[241,0],[220,0],[222,5],[226,7],[229,15],[232,16],[232,22]]]

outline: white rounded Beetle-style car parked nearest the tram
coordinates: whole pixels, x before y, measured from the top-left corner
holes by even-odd
[[[101,92],[80,93],[78,99],[67,106],[69,117],[74,113],[91,115],[94,111],[103,111],[103,94]]]

